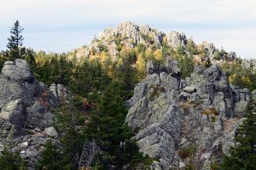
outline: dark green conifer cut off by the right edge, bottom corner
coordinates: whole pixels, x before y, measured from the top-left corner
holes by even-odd
[[[249,104],[246,119],[235,137],[235,145],[230,155],[223,158],[223,169],[254,169],[256,167],[256,114],[253,104]]]

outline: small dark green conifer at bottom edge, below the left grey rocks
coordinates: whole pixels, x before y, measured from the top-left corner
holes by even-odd
[[[35,169],[64,169],[63,156],[61,149],[53,141],[48,140],[40,158],[37,159]]]

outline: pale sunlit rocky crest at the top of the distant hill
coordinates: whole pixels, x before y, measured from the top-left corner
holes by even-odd
[[[161,48],[163,42],[173,49],[178,46],[186,46],[187,39],[184,33],[171,31],[169,34],[159,32],[157,29],[152,29],[150,26],[138,26],[133,22],[121,22],[116,28],[106,28],[99,34],[99,38],[92,40],[89,46],[75,49],[70,53],[70,58],[74,57],[81,62],[82,59],[95,56],[103,51],[108,53],[113,60],[117,59],[122,49],[133,49],[139,44],[143,44],[149,48]],[[119,49],[122,47],[121,49]]]

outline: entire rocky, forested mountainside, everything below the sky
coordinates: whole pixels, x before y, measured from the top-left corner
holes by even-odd
[[[0,52],[0,169],[256,167],[255,59],[133,22],[70,53],[20,32]]]

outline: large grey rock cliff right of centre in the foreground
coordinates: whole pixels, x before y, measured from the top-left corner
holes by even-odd
[[[182,80],[177,62],[168,57],[165,66],[147,64],[147,77],[126,101],[126,123],[140,151],[159,161],[157,167],[184,167],[189,158],[182,151],[191,149],[196,168],[204,169],[222,158],[222,150],[227,153],[249,99],[249,91],[231,86],[219,66],[195,66]]]

